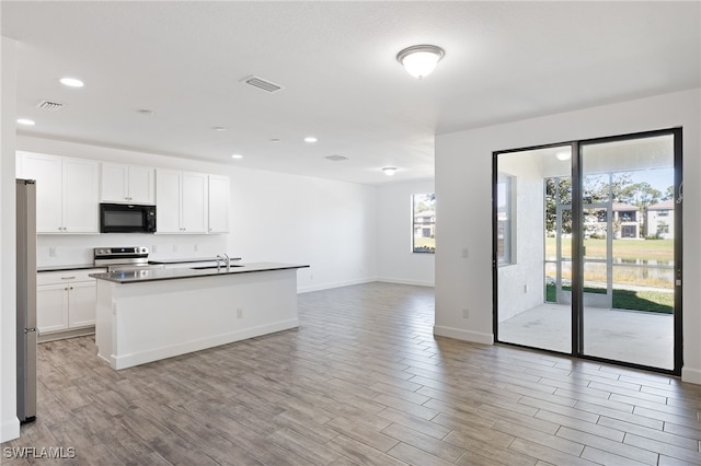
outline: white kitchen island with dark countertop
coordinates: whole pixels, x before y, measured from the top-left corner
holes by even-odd
[[[97,356],[119,370],[296,328],[297,269],[304,267],[256,263],[93,273]]]

